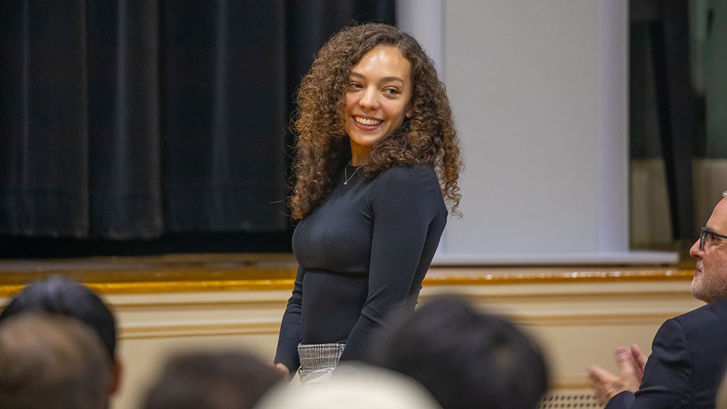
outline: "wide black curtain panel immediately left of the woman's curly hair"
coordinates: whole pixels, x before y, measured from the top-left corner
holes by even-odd
[[[168,1],[166,228],[285,229],[284,5]]]

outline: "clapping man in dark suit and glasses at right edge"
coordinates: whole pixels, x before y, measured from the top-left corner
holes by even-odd
[[[696,259],[691,293],[707,305],[667,319],[648,360],[638,346],[616,349],[618,376],[587,368],[606,409],[715,408],[727,360],[727,191],[722,196],[689,249]]]

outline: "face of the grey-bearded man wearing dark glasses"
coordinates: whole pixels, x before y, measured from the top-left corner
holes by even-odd
[[[727,198],[720,200],[712,211],[707,229],[727,234]],[[711,303],[727,298],[727,239],[707,234],[704,248],[699,249],[699,239],[689,249],[696,258],[696,271],[691,280],[694,298]]]

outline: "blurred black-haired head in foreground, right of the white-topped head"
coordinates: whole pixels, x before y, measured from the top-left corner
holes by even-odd
[[[448,297],[421,306],[382,334],[369,362],[424,385],[444,409],[536,408],[545,360],[506,319]]]

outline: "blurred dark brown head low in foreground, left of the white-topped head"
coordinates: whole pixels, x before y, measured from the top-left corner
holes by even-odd
[[[144,409],[249,409],[281,381],[249,352],[186,352],[166,362]]]

